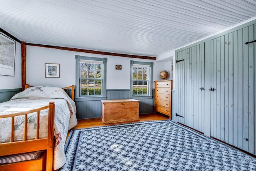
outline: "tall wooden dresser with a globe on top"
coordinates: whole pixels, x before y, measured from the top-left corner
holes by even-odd
[[[172,119],[172,80],[155,81],[155,111]]]

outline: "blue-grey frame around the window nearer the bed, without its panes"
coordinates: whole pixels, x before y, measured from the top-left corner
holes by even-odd
[[[76,101],[90,101],[90,100],[103,100],[106,99],[106,76],[107,76],[107,61],[108,58],[95,58],[95,57],[88,57],[88,56],[80,56],[76,55],[76,95],[75,99]],[[102,96],[95,95],[90,97],[84,97],[80,95],[80,84],[79,84],[79,78],[80,78],[80,65],[79,60],[92,60],[92,61],[103,61],[103,83],[102,83]]]

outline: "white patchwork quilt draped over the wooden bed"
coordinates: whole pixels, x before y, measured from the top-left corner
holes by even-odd
[[[12,97],[10,101],[0,103],[0,115],[26,111],[55,102],[54,135],[56,143],[54,148],[54,170],[65,164],[66,157],[64,145],[68,130],[77,124],[76,106],[74,101],[62,88],[58,87],[30,87]],[[28,139],[36,137],[36,115],[28,115]],[[10,141],[11,118],[0,119],[0,143]],[[47,137],[48,109],[40,112],[39,138]],[[14,141],[23,140],[24,115],[15,117]]]

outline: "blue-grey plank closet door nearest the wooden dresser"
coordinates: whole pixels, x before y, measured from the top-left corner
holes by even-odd
[[[204,44],[177,52],[177,122],[204,131]]]

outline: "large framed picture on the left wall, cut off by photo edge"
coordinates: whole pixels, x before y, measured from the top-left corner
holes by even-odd
[[[16,42],[0,33],[0,75],[14,76]]]

